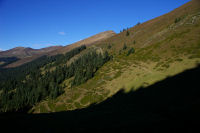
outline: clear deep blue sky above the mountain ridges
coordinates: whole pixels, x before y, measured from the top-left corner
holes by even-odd
[[[189,0],[0,0],[0,49],[67,45],[119,32]]]

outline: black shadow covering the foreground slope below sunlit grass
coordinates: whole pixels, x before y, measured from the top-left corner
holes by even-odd
[[[196,132],[200,67],[86,109],[50,114],[1,114],[1,130],[20,132]],[[198,132],[198,131],[197,131]]]

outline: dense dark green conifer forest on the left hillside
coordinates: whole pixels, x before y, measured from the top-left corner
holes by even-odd
[[[92,78],[95,72],[110,60],[107,52],[101,54],[90,51],[66,65],[68,60],[84,49],[86,46],[75,48],[65,55],[41,57],[24,66],[4,71],[5,77],[2,77],[4,75],[1,73],[0,111],[24,111],[46,98],[55,99],[64,92],[61,85],[64,80],[73,77],[71,86],[80,85]],[[40,68],[47,64],[51,64],[55,70],[46,70],[42,74]]]

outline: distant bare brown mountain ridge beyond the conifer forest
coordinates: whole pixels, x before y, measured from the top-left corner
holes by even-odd
[[[1,51],[0,58],[19,58],[19,60],[17,60],[16,62],[5,66],[6,68],[17,67],[44,55],[52,56],[57,54],[64,54],[70,51],[71,49],[79,47],[81,45],[89,46],[96,42],[103,41],[111,36],[114,36],[115,34],[116,33],[114,31],[105,31],[67,46],[52,46],[42,49],[16,47],[10,50]]]

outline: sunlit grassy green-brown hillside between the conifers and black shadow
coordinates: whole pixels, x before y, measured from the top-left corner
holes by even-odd
[[[200,2],[193,0],[174,11],[95,44],[108,50],[113,60],[95,77],[56,100],[45,100],[33,108],[34,113],[83,108],[101,102],[120,89],[149,86],[168,76],[195,67],[200,62]],[[175,23],[175,19],[180,21]],[[135,41],[135,43],[134,43]],[[127,50],[122,50],[123,45]],[[108,45],[111,48],[108,49]],[[126,56],[130,47],[135,53]],[[120,54],[119,54],[120,53]],[[69,81],[65,81],[66,83]]]

